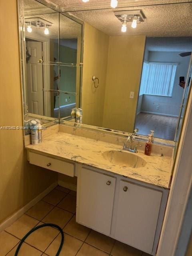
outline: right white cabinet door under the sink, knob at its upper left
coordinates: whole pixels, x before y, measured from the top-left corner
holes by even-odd
[[[120,181],[115,237],[151,253],[162,192]]]

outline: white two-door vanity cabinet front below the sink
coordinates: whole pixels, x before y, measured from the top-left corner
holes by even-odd
[[[78,165],[76,222],[156,254],[168,190]]]

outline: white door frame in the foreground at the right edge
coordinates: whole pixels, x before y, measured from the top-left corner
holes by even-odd
[[[192,58],[191,58],[192,60]],[[190,63],[192,65],[192,63]],[[190,225],[185,236],[186,244],[179,244],[182,235],[182,226],[185,220],[187,205],[192,190],[192,81],[185,110],[180,140],[176,152],[176,160],[173,168],[173,177],[168,197],[164,222],[156,256],[184,256],[187,243],[190,239]]]

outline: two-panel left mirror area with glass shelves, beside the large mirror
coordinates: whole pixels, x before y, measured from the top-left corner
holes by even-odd
[[[70,117],[79,107],[82,24],[36,0],[24,0],[24,24],[25,119]]]

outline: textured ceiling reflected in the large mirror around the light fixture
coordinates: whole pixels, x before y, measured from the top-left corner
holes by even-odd
[[[135,29],[128,23],[127,32],[123,35],[192,36],[192,3],[120,8],[123,9],[140,9],[146,16],[145,21],[138,24]],[[72,14],[109,36],[117,36],[122,35],[122,32],[121,22],[114,15],[115,10],[88,10]]]

